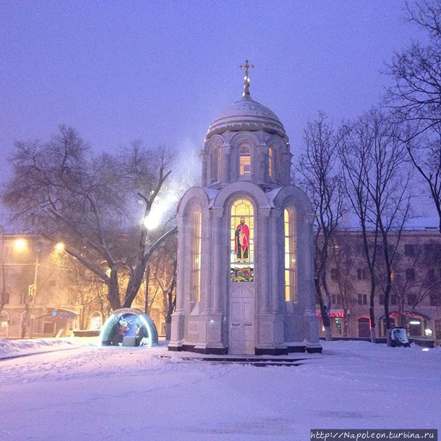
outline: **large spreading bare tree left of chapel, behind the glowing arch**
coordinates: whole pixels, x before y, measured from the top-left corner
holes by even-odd
[[[105,283],[112,309],[128,307],[150,254],[176,232],[152,238],[143,225],[171,173],[170,159],[170,151],[141,143],[92,156],[75,130],[61,126],[48,143],[16,143],[3,201],[34,231],[63,240],[65,251]],[[122,301],[121,271],[130,274]]]

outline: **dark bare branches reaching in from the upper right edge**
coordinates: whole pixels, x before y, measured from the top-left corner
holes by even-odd
[[[441,232],[441,1],[407,3],[407,20],[427,40],[396,52],[387,70],[393,83],[385,101],[396,121],[406,126],[403,140],[429,189]]]

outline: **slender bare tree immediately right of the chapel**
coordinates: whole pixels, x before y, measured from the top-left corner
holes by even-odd
[[[308,122],[303,136],[304,153],[296,172],[300,174],[300,185],[305,187],[316,210],[316,294],[326,339],[331,340],[329,312],[332,300],[327,283],[327,263],[329,240],[342,216],[343,186],[337,154],[338,137],[326,120],[325,114],[320,112],[318,119]]]

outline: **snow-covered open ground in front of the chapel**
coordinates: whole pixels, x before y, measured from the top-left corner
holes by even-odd
[[[3,356],[70,349],[0,360],[0,440],[307,441],[310,429],[441,429],[440,348],[323,346],[297,367],[254,367],[183,361],[165,346],[0,340]]]

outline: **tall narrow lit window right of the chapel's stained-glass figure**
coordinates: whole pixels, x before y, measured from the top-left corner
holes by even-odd
[[[297,302],[296,243],[294,233],[294,210],[292,208],[285,208],[283,220],[285,226],[285,301]]]

